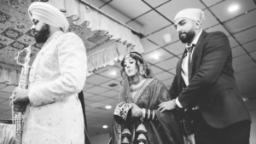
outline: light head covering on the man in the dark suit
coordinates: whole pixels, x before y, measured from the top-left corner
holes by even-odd
[[[182,11],[178,12],[174,18],[174,22],[178,18],[187,18],[190,20],[199,21],[201,24],[205,19],[205,14],[201,9],[183,9]]]

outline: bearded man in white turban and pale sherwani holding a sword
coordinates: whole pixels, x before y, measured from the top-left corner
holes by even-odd
[[[15,112],[24,112],[23,144],[84,144],[84,118],[78,99],[83,89],[87,57],[84,43],[67,32],[59,9],[34,2],[28,8],[37,43],[44,43],[34,60],[29,88],[16,88]]]

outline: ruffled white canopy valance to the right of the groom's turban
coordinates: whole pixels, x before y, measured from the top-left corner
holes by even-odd
[[[93,55],[88,55],[88,75],[104,66],[113,66],[114,59],[122,58],[131,49],[138,53],[144,52],[137,35],[96,9],[89,8],[78,0],[49,0],[48,3],[60,9],[66,17],[72,17],[74,25],[85,24],[90,31],[104,31],[109,39],[119,42],[116,45],[98,49]],[[121,46],[120,43],[126,47]]]

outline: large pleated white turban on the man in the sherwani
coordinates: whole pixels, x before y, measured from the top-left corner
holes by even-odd
[[[69,23],[64,14],[59,9],[49,3],[34,2],[28,8],[30,20],[36,19],[49,26],[60,27],[63,32],[67,32]]]

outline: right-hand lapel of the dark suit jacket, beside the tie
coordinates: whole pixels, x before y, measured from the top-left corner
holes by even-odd
[[[190,81],[190,79],[192,77],[192,71],[193,71],[195,55],[198,53],[198,49],[201,47],[201,42],[205,39],[205,37],[207,37],[207,32],[202,31],[201,32],[201,36],[199,37],[199,39],[198,39],[198,41],[197,41],[197,43],[195,45],[195,48],[194,48],[195,50],[194,50],[194,52],[192,54],[191,65],[190,65],[190,68],[189,68],[189,73],[191,73],[191,74],[189,74],[189,81]]]

